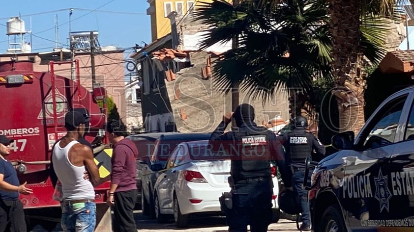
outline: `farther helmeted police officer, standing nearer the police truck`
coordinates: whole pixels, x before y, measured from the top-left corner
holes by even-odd
[[[290,162],[292,169],[292,185],[294,191],[299,196],[299,202],[302,209],[301,231],[310,231],[310,209],[308,203],[308,191],[302,189],[304,179],[305,160],[307,157],[312,158],[313,150],[318,155],[325,155],[325,146],[311,133],[306,131],[308,121],[305,117],[296,116],[292,122],[294,129],[287,134],[281,135],[278,139],[286,149],[286,157]]]

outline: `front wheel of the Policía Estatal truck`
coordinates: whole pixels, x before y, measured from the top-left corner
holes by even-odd
[[[343,232],[347,231],[342,217],[341,209],[338,206],[329,206],[322,215],[322,232]]]

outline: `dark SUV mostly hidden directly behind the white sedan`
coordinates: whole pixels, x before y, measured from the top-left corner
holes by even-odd
[[[206,140],[210,138],[210,135],[210,133],[168,133],[161,135],[155,141],[150,155],[141,158],[141,163],[145,164],[142,168],[141,176],[141,207],[144,215],[150,215],[151,218],[155,218],[154,184],[160,172],[165,170],[171,152],[181,142]]]

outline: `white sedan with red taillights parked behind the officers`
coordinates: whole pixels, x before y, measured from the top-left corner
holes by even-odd
[[[218,198],[230,192],[228,177],[231,160],[194,160],[205,155],[208,140],[183,142],[172,152],[167,167],[154,185],[155,216],[164,222],[167,215],[174,215],[178,228],[187,227],[188,216],[193,213],[221,215]],[[191,153],[191,155],[190,155]],[[279,192],[276,168],[271,166],[273,192]],[[279,219],[277,195],[272,197],[273,221]]]

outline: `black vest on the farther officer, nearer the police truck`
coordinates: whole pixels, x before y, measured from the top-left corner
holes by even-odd
[[[284,146],[286,154],[293,163],[304,163],[307,157],[312,157],[312,135],[306,131],[291,131]]]

